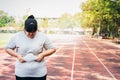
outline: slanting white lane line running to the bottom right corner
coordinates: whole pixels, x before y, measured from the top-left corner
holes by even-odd
[[[83,41],[84,42],[84,41]],[[84,42],[85,43],[85,42]],[[110,72],[110,70],[103,64],[103,62],[97,57],[97,55],[92,51],[92,49],[88,46],[88,44],[85,43],[87,48],[90,50],[90,52],[97,58],[97,60],[102,64],[102,66],[106,69],[106,71],[110,74],[110,76],[113,78],[113,80],[117,80],[115,76]]]

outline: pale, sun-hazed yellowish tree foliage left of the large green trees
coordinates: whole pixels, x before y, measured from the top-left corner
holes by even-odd
[[[63,29],[80,27],[80,15],[80,13],[74,16],[68,13],[63,14],[58,20],[59,27]]]

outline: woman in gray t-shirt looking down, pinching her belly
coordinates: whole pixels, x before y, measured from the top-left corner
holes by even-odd
[[[38,32],[37,21],[30,15],[25,21],[24,30],[11,38],[5,51],[17,58],[16,80],[46,80],[44,57],[53,54],[56,49],[44,34]]]

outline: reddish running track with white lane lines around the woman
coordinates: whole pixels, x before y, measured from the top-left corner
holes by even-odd
[[[45,58],[47,80],[120,80],[120,48],[88,36],[49,37],[58,49]],[[0,80],[15,80],[14,62],[0,49]]]

